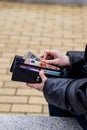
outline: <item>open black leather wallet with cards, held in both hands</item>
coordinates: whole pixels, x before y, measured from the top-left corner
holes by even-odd
[[[44,70],[48,78],[63,77],[63,71],[25,64],[23,57],[16,55],[10,68],[10,72],[12,72],[11,80],[27,83],[41,83],[42,80],[39,76],[39,71],[41,69]]]

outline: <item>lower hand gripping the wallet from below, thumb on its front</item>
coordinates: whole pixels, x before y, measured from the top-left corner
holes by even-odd
[[[39,72],[39,75],[40,75],[40,77],[41,77],[41,79],[42,79],[42,82],[41,82],[41,83],[34,83],[34,84],[33,84],[33,83],[32,83],[32,84],[27,83],[26,85],[27,85],[28,87],[37,89],[37,90],[39,90],[39,91],[43,91],[44,84],[45,84],[45,82],[46,82],[46,80],[47,80],[47,77],[44,75],[44,71],[43,71],[43,70],[41,70],[41,71]]]

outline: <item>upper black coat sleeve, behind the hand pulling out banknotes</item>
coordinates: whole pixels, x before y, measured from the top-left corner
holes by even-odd
[[[67,68],[70,78],[87,77],[87,45],[84,52],[68,51],[66,54],[70,60],[70,67]]]

